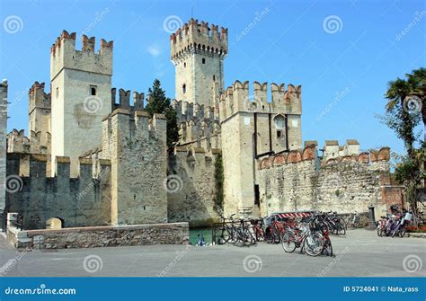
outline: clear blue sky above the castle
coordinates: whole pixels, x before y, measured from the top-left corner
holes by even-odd
[[[95,36],[96,49],[101,38],[114,40],[113,86],[146,92],[157,77],[173,98],[164,20],[187,22],[191,7],[194,18],[229,30],[226,86],[236,79],[302,84],[303,139],[321,146],[325,139],[343,144],[357,138],[361,149],[391,146],[403,152],[375,114],[384,112],[389,80],[426,65],[422,0],[3,0],[0,5],[0,76],[9,81],[9,130],[28,128],[31,84],[46,82],[49,90],[49,49],[64,29]],[[10,16],[18,17],[17,28],[5,27]]]

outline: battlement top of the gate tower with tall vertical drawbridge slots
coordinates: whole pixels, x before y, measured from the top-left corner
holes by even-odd
[[[253,93],[249,91],[249,82],[235,81],[220,96],[220,120],[224,121],[238,111],[302,114],[302,86],[271,84],[271,100],[268,100],[268,83],[253,83]]]

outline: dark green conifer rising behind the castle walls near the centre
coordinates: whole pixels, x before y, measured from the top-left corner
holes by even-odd
[[[170,98],[165,95],[158,79],[155,79],[153,86],[148,89],[147,101],[145,110],[149,116],[152,117],[155,113],[165,115],[167,119],[167,148],[169,151],[173,151],[174,144],[179,140],[176,111],[174,111]]]

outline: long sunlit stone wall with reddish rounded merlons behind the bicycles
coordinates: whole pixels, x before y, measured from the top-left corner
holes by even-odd
[[[389,149],[327,160],[316,156],[315,146],[303,152],[262,159],[258,182],[262,215],[276,211],[333,210],[368,212],[379,217],[391,204],[401,204],[401,187],[390,180]],[[392,189],[392,198],[386,192]],[[389,194],[389,192],[387,192]]]

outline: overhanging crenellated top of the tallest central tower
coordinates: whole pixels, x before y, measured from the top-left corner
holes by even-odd
[[[228,51],[227,29],[209,22],[191,19],[170,36],[172,60],[200,53],[210,57],[225,58]]]

